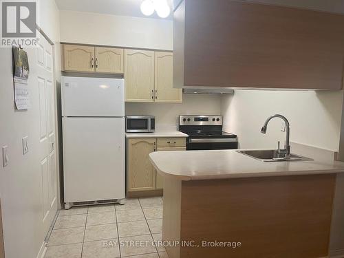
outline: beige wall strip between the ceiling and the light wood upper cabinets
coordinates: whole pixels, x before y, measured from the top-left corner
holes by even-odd
[[[173,21],[61,11],[61,42],[172,50]]]

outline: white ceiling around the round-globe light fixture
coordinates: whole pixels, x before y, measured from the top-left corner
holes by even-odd
[[[55,0],[60,10],[77,12],[97,12],[130,17],[161,19],[156,12],[147,17],[142,14],[140,5],[143,0]],[[173,0],[166,0],[171,8],[171,14],[165,19],[173,19]]]

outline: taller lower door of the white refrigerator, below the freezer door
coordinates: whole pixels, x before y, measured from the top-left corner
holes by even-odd
[[[125,118],[63,118],[65,202],[125,197]]]

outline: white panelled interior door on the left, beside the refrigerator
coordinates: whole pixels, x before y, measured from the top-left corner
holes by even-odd
[[[41,150],[42,223],[47,232],[57,211],[53,49],[41,34],[38,44],[36,66],[41,128],[39,149]]]

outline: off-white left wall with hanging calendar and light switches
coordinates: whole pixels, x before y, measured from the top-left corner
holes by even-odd
[[[41,0],[38,5],[38,25],[55,43],[59,42],[59,14],[54,0]],[[29,64],[36,55],[34,48],[28,52]],[[59,47],[55,47],[56,70],[60,70]],[[6,257],[37,257],[43,249],[47,232],[42,228],[43,211],[41,169],[39,166],[40,134],[39,92],[34,77],[34,65],[30,66],[28,87],[31,108],[28,111],[14,109],[12,50],[0,48],[0,147],[8,145],[10,162],[0,164],[0,196],[3,219],[3,235]],[[56,80],[59,80],[57,77]],[[21,138],[29,136],[30,151],[22,154]],[[1,157],[1,154],[0,154]],[[1,158],[2,160],[2,158]]]

